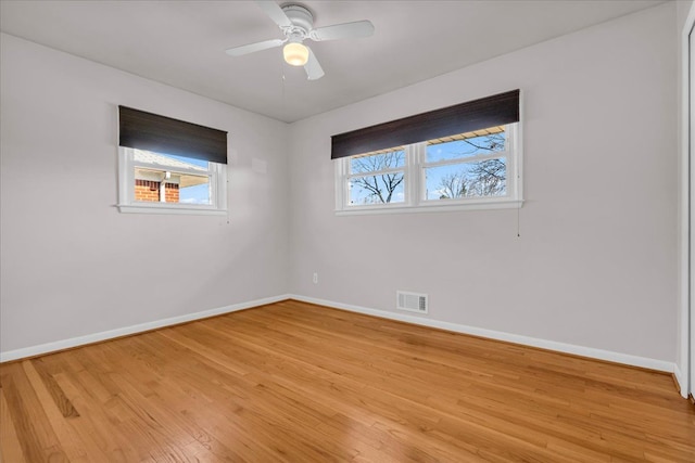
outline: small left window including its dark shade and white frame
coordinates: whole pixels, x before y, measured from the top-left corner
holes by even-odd
[[[118,209],[226,214],[227,132],[118,107]]]

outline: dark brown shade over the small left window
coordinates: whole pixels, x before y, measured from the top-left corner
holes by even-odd
[[[118,106],[121,146],[227,164],[227,132]]]

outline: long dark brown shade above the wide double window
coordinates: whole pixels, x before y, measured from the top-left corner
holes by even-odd
[[[332,159],[519,121],[519,90],[331,137]]]

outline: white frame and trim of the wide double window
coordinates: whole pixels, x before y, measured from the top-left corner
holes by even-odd
[[[427,155],[427,142],[415,143],[405,146],[406,165],[403,168],[388,170],[404,170],[404,196],[402,203],[369,204],[364,206],[350,206],[346,204],[349,179],[362,177],[350,175],[350,157],[336,159],[336,215],[370,215],[370,214],[409,214],[409,213],[439,213],[454,210],[480,210],[480,209],[516,209],[523,205],[523,143],[521,139],[521,121],[507,126],[509,149],[504,152],[475,156],[470,162],[485,158],[505,157],[507,163],[507,194],[494,197],[470,197],[459,200],[427,200],[422,185],[425,184],[425,168],[440,165],[464,164],[469,162],[462,159],[425,163]]]

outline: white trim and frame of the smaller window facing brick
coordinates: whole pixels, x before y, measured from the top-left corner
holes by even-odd
[[[127,214],[184,214],[184,215],[227,215],[227,165],[210,163],[210,181],[213,204],[144,203],[135,201],[135,167],[152,168],[150,164],[136,163],[134,150],[118,146],[118,210]],[[185,168],[169,169],[172,172],[188,173]],[[200,175],[200,171],[190,170]]]

